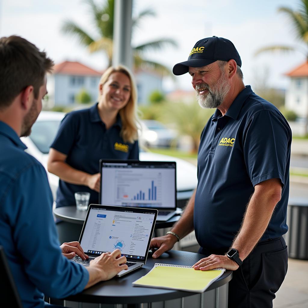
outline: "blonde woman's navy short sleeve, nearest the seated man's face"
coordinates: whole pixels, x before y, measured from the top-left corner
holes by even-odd
[[[65,115],[60,124],[55,140],[50,147],[68,155],[75,142],[78,127],[78,117],[76,113],[71,112]]]

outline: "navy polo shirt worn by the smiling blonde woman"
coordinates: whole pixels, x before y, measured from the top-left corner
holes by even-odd
[[[99,160],[102,158],[139,159],[138,141],[127,143],[120,136],[120,115],[107,130],[99,117],[97,105],[68,113],[51,144],[51,148],[67,155],[67,164],[90,174],[99,172]],[[89,203],[99,202],[98,193],[89,187],[59,180],[57,207],[75,205],[74,193],[78,191],[90,193]]]

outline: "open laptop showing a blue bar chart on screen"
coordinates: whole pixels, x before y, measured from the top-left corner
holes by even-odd
[[[158,210],[158,221],[176,213],[176,162],[107,160],[99,161],[99,202]]]

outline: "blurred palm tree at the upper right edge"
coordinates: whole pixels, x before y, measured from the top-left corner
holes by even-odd
[[[308,47],[308,0],[300,0],[299,9],[297,11],[292,10],[289,7],[279,7],[278,12],[286,14],[290,18],[290,22],[293,24],[296,37],[300,41],[306,44]],[[262,52],[271,51],[271,52],[293,52],[300,51],[306,55],[308,61],[308,48],[302,50],[300,47],[293,47],[287,45],[272,45],[260,48],[255,52],[255,55],[259,55]],[[307,134],[308,126],[308,114],[306,116],[306,125],[305,125],[305,134]]]

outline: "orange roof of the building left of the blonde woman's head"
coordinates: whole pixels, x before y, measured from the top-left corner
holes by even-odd
[[[79,62],[64,61],[56,64],[53,68],[53,74],[77,75],[77,76],[101,76],[102,73],[93,70]]]

